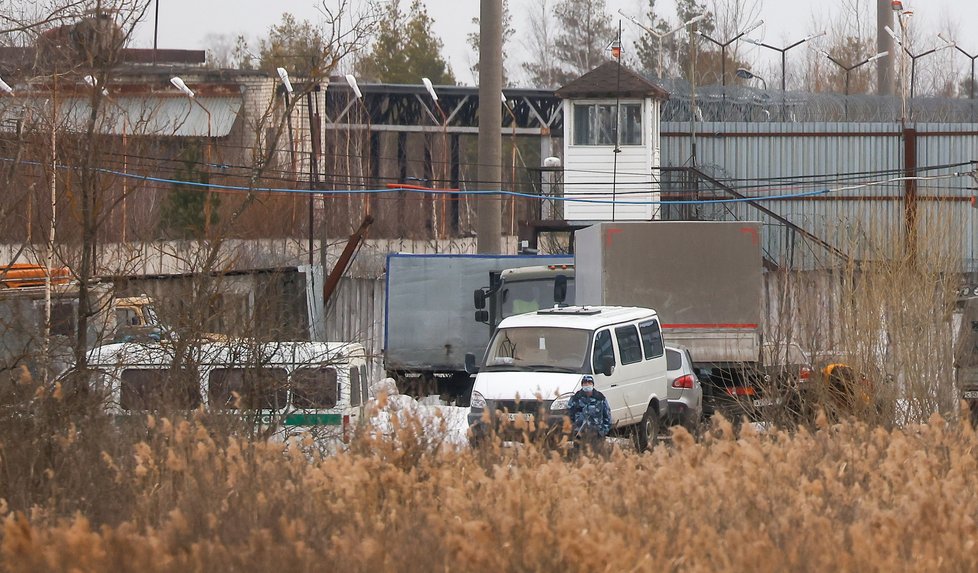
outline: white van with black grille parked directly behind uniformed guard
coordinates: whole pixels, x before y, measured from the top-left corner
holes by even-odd
[[[467,358],[476,370],[474,357]],[[654,444],[668,410],[659,318],[651,309],[618,306],[551,308],[503,320],[472,389],[474,439],[502,417],[532,420],[553,434],[585,374],[608,399],[613,428],[636,426],[638,446]]]

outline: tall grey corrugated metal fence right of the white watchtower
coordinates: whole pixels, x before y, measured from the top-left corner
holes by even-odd
[[[663,124],[662,166],[691,165],[688,123]],[[698,123],[696,165],[803,229],[861,260],[900,254],[909,218],[923,256],[935,253],[978,271],[975,208],[978,124]],[[915,210],[908,209],[905,153],[916,161]],[[663,175],[663,191],[682,193]],[[701,187],[701,191],[703,188]],[[803,196],[810,194],[811,196]],[[711,193],[711,196],[717,196]],[[793,198],[794,197],[794,198]],[[744,203],[703,206],[707,219],[761,219],[765,250],[792,268],[828,261],[773,219]]]

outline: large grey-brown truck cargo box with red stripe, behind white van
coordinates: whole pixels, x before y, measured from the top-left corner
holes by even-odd
[[[757,222],[598,223],[575,235],[576,303],[655,309],[698,363],[757,362]]]

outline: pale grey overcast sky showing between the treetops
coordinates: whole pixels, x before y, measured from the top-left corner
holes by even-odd
[[[333,4],[336,0],[328,0]],[[357,0],[353,0],[356,2]],[[360,0],[363,2],[370,0]],[[402,0],[405,6],[408,0]],[[760,8],[760,18],[764,25],[749,36],[763,40],[774,46],[785,46],[805,37],[810,32],[829,27],[843,13],[843,6],[851,3],[875,5],[874,0],[748,0]],[[283,12],[291,12],[299,19],[312,22],[320,20],[317,7],[321,2],[313,0],[158,0],[160,48],[202,49],[206,47],[208,33],[236,36],[244,34],[249,38],[263,36],[268,28],[279,22]],[[510,0],[516,27],[514,46],[507,58],[516,60],[509,64],[511,70],[518,68],[519,61],[526,53],[525,27],[520,26],[526,19],[526,7],[531,0]],[[473,55],[466,43],[466,35],[474,31],[472,18],[478,15],[478,0],[425,0],[428,13],[435,21],[434,31],[445,44],[444,54],[448,57],[456,78],[463,84],[474,84],[469,72]],[[535,2],[534,2],[535,3]],[[610,13],[617,24],[617,13],[622,9],[628,14],[638,15],[646,0],[607,0]],[[658,0],[658,7],[665,14],[672,15],[675,10],[673,0]],[[709,2],[707,2],[709,4]],[[950,29],[961,47],[971,54],[978,54],[978,30],[966,22],[978,22],[978,1],[976,0],[903,0],[904,8],[914,11],[909,20],[914,29],[925,34],[920,42],[920,51],[935,45],[934,37],[939,30]],[[153,6],[147,21],[136,30],[134,47],[153,45]],[[816,22],[819,24],[816,25]],[[875,16],[874,20],[875,22]],[[958,23],[961,24],[958,24]],[[623,23],[623,44],[626,50],[640,31],[628,21]],[[823,39],[824,40],[824,39]],[[820,40],[821,41],[821,40]],[[788,52],[789,62],[801,57],[804,46]],[[739,56],[745,61],[756,61],[755,71],[774,65],[777,52],[769,49],[739,43]],[[626,52],[626,62],[628,54]],[[936,57],[936,55],[935,55]],[[956,67],[968,69],[969,61],[960,53],[954,56]],[[931,62],[946,60],[930,60]],[[918,66],[926,64],[921,59]],[[780,64],[778,64],[780,65]],[[790,65],[790,63],[789,63]],[[932,64],[933,65],[933,64]]]

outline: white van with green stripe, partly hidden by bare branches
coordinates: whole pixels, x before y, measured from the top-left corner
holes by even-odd
[[[317,428],[345,440],[369,398],[365,358],[348,342],[232,340],[191,347],[190,367],[179,372],[172,345],[125,342],[93,349],[89,367],[111,414],[203,405],[278,437]]]

